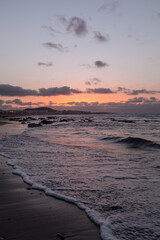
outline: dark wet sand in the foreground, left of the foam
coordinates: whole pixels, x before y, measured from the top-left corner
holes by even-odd
[[[31,189],[6,160],[0,156],[0,240],[101,239],[83,211]]]

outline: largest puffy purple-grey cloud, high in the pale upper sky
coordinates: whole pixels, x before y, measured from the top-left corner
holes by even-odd
[[[66,30],[67,32],[73,32],[76,36],[84,36],[88,33],[86,22],[79,17],[72,17],[67,22]]]

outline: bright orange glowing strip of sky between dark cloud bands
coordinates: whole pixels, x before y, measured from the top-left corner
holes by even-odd
[[[156,94],[155,98],[160,97],[160,94]],[[68,104],[68,103],[80,103],[80,102],[87,102],[87,103],[119,103],[119,102],[126,102],[128,99],[133,98],[139,98],[142,97],[139,95],[127,95],[122,92],[118,93],[109,93],[109,94],[89,94],[89,93],[83,93],[83,94],[72,94],[72,95],[59,95],[59,96],[26,96],[26,97],[3,97],[3,100],[6,102],[8,100],[13,101],[15,99],[18,99],[22,102],[22,104],[13,104],[13,103],[7,103],[8,105],[12,105],[12,107],[23,107],[23,108],[29,108],[29,107],[40,107],[40,106],[69,106],[74,104]],[[149,99],[150,97],[153,97],[151,95],[143,94],[144,98]],[[25,105],[26,103],[26,105]],[[29,103],[27,105],[27,103]],[[138,103],[138,102],[137,102]]]

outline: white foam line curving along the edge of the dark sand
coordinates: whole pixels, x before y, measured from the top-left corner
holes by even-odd
[[[29,184],[32,189],[37,189],[40,191],[45,192],[45,194],[47,196],[51,196],[60,200],[64,200],[68,203],[72,203],[75,204],[78,208],[80,208],[81,210],[84,210],[86,212],[86,214],[88,215],[88,217],[96,224],[99,226],[100,228],[100,234],[101,234],[101,238],[103,240],[118,240],[117,238],[115,238],[112,234],[112,230],[111,230],[111,224],[109,222],[109,220],[107,219],[103,219],[100,215],[100,213],[98,213],[95,210],[89,209],[88,207],[86,207],[81,201],[72,198],[72,197],[67,197],[64,196],[62,194],[57,194],[55,193],[53,190],[39,184],[36,182],[33,182],[30,177],[22,170],[21,167],[16,166],[15,165],[15,160],[16,159],[8,159],[7,160],[7,164],[13,167],[13,171],[12,173],[18,176],[21,176],[23,181],[27,184]]]

